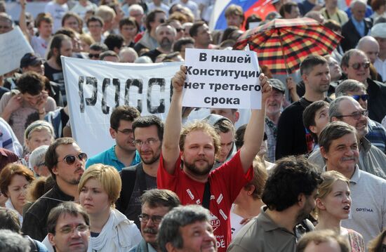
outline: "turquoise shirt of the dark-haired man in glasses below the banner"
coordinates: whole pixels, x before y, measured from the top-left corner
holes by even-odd
[[[135,166],[141,161],[140,154],[138,151],[135,151],[135,156],[130,166]],[[115,154],[115,145],[100,154],[96,154],[94,157],[91,157],[86,162],[86,168],[93,164],[106,164],[108,166],[114,166],[118,171],[121,171],[126,166],[118,160],[117,155]]]

